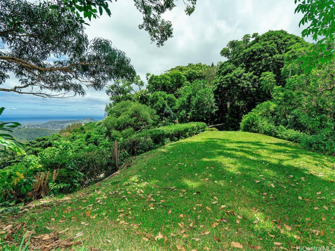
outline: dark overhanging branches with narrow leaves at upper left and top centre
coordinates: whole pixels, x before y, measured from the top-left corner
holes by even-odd
[[[171,22],[161,15],[173,9],[175,1],[134,1],[143,13],[144,22],[139,28],[148,31],[158,46],[172,37]],[[85,95],[83,86],[102,90],[110,81],[132,80],[135,70],[124,52],[107,39],[89,42],[84,33],[84,18],[96,18],[103,9],[111,15],[108,2],[112,0],[1,1],[0,85],[11,74],[19,84],[0,91],[66,98]],[[196,0],[184,3],[190,15]]]

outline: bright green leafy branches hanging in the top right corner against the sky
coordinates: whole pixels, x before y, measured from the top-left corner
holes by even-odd
[[[335,58],[335,2],[334,0],[294,0],[295,12],[304,14],[300,25],[308,24],[303,37],[312,36],[316,44],[299,58],[305,73],[318,64],[332,64]]]

